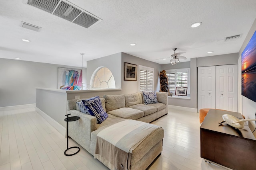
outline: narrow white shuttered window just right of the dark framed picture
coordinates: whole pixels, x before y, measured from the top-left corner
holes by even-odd
[[[154,90],[154,68],[139,65],[139,91]]]

